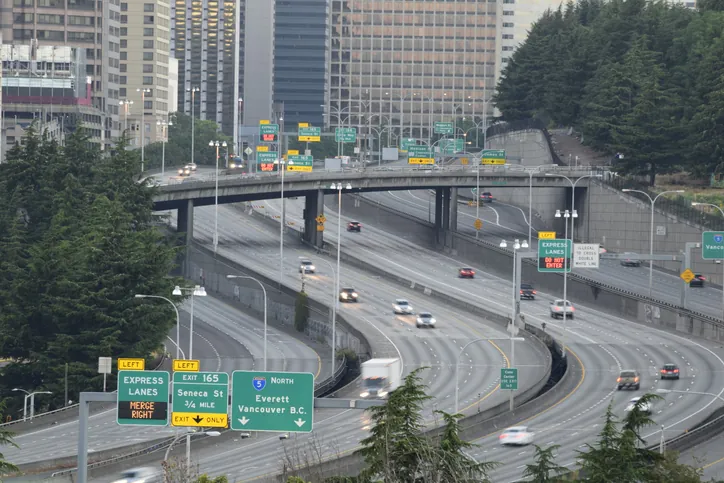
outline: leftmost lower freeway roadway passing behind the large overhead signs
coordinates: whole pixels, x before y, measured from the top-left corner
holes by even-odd
[[[147,302],[153,303],[153,302]],[[190,302],[181,305],[181,349],[188,347]],[[194,301],[194,358],[201,361],[203,371],[232,372],[261,367],[263,360],[260,329],[263,324],[213,297],[196,297]],[[170,337],[175,338],[176,329]],[[169,343],[169,346],[172,344]],[[168,348],[175,354],[175,346]],[[285,369],[322,372],[316,352],[297,339],[278,331],[270,331],[268,344],[270,370]],[[182,354],[183,355],[183,354]],[[91,416],[88,434],[90,452],[133,445],[143,441],[172,436],[171,427],[119,426],[115,408]],[[77,454],[78,421],[58,424],[47,429],[18,435],[19,448],[8,447],[4,455],[16,465],[44,461]]]

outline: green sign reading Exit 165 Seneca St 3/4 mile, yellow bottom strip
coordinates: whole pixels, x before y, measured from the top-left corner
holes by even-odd
[[[229,375],[174,372],[171,426],[225,428],[229,425]]]

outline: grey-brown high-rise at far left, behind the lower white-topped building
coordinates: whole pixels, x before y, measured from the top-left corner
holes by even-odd
[[[120,0],[0,0],[4,42],[85,49],[92,103],[103,115],[101,147],[119,136]]]

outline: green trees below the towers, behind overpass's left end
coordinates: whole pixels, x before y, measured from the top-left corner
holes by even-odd
[[[172,125],[168,127],[168,142],[166,143],[166,168],[169,166],[183,166],[191,162],[191,116],[177,112],[170,116]],[[219,147],[219,166],[225,166],[226,150],[234,154],[233,138],[224,135],[218,130],[214,121],[196,119],[194,123],[194,162],[196,164],[215,165],[216,147],[209,146],[209,141],[226,141],[227,147]],[[163,143],[151,143],[144,146],[144,169],[158,169],[161,167]],[[136,150],[140,156],[140,149]]]

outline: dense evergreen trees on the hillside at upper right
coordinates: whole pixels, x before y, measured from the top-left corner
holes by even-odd
[[[724,3],[582,0],[546,12],[503,70],[502,119],[574,126],[624,174],[724,169]]]

